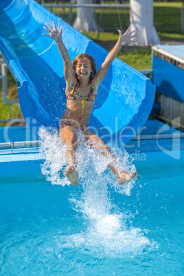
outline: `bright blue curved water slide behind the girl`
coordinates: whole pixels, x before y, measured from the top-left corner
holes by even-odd
[[[1,54],[17,82],[25,121],[34,135],[40,126],[58,128],[66,106],[63,61],[56,43],[43,36],[43,25],[64,26],[71,60],[85,52],[99,69],[108,51],[34,0],[1,0],[0,12]],[[100,85],[90,129],[106,142],[128,142],[148,119],[154,93],[150,79],[115,58]]]

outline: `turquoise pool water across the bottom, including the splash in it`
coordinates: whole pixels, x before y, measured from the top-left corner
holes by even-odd
[[[183,176],[0,185],[1,275],[182,275]],[[110,177],[111,179],[111,177]]]

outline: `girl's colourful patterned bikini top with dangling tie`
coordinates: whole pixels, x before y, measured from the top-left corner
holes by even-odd
[[[84,105],[87,102],[95,102],[97,94],[94,91],[94,87],[92,84],[90,84],[90,91],[86,97],[82,97],[80,95],[80,92],[78,91],[79,84],[76,85],[71,91],[66,93],[67,100],[73,100],[73,101],[81,101],[82,104],[82,114],[84,113]]]

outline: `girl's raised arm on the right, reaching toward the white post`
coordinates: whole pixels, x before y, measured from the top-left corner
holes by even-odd
[[[119,50],[122,48],[122,46],[125,45],[126,43],[134,42],[134,41],[132,41],[132,38],[134,38],[136,36],[136,35],[133,35],[133,32],[135,32],[135,31],[130,32],[130,34],[128,34],[129,30],[130,29],[128,28],[128,30],[126,30],[126,32],[124,34],[122,34],[122,32],[120,30],[118,30],[119,39],[118,39],[115,47],[113,47],[113,49],[108,53],[105,61],[101,65],[99,71],[97,71],[97,73],[95,73],[95,76],[93,77],[93,82],[95,83],[96,86],[98,86],[100,84],[100,82],[102,82],[102,80],[104,80],[109,66],[111,65],[111,63],[113,62],[113,60],[115,59],[117,54],[119,53]]]

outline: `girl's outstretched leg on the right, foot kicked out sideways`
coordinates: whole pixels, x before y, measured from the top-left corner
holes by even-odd
[[[122,185],[127,181],[130,181],[131,179],[135,179],[135,177],[137,177],[137,172],[128,174],[127,172],[119,171],[115,155],[111,152],[111,150],[109,150],[108,146],[106,146],[106,143],[104,143],[104,141],[102,141],[97,135],[95,135],[95,133],[92,133],[90,130],[86,130],[84,132],[84,135],[86,141],[91,141],[91,145],[95,146],[95,148],[99,148],[105,157],[111,157],[112,161],[108,164],[108,168],[110,168],[117,176],[117,182],[119,183],[119,185]]]

